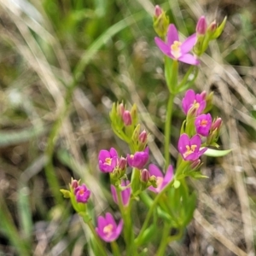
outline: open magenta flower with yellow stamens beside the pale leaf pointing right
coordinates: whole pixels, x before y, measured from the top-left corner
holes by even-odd
[[[201,137],[196,134],[194,137],[189,139],[188,134],[183,133],[177,143],[177,149],[183,156],[183,160],[197,160],[207,151],[207,148],[201,147]]]

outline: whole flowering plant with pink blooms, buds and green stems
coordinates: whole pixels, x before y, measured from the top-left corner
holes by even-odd
[[[225,20],[220,26],[211,24],[207,27],[206,19],[202,16],[195,33],[183,43],[179,41],[176,26],[168,22],[166,13],[156,6],[154,30],[160,38],[154,41],[165,55],[166,84],[170,92],[166,108],[165,167],[159,168],[152,163],[147,167],[150,162],[150,135],[141,130],[137,106],[134,104],[128,110],[123,102],[116,102],[110,112],[111,126],[113,132],[130,148],[130,152],[125,152],[126,157],[119,157],[115,148],[102,149],[98,154],[98,168],[110,177],[110,191],[119,207],[119,224],[116,224],[114,214],[110,212],[105,217],[98,216],[96,223],[96,217],[86,207],[91,193],[84,183],[80,185],[80,181],[72,180],[69,190],[61,189],[62,194],[71,199],[75,211],[88,224],[95,241],[92,247],[95,255],[108,255],[108,247],[103,241],[110,243],[113,255],[147,255],[148,245],[152,242],[157,245],[155,255],[166,255],[169,242],[179,240],[193,218],[196,194],[189,190],[187,178],[205,177],[200,172],[201,156],[207,154],[209,147],[218,148],[222,120],[217,118],[212,121],[212,115],[207,113],[212,106],[212,94],[206,91],[195,93],[190,87],[197,76],[200,55],[212,39],[218,38],[224,29]],[[190,65],[180,81],[179,62]],[[191,75],[193,79],[189,79]],[[171,165],[169,145],[172,107],[174,97],[185,90],[181,104],[185,119],[177,139],[179,154],[176,165]],[[215,155],[226,153],[214,151]],[[147,214],[143,216],[143,224],[135,229],[134,209],[142,203],[147,208]],[[159,228],[162,229],[161,233],[157,231]],[[120,253],[121,248],[125,253]]]

